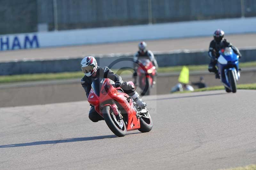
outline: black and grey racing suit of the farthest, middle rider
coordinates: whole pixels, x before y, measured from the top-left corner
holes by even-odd
[[[137,66],[138,66],[138,60],[140,58],[149,59],[152,62],[153,66],[156,67],[156,71],[158,70],[158,64],[156,62],[156,58],[155,58],[155,56],[154,56],[152,51],[147,50],[144,54],[140,53],[140,51],[136,52],[134,57],[133,57],[133,61],[134,61],[134,65],[133,65],[133,68],[134,68],[133,78],[134,78],[135,82],[136,82],[136,77],[135,76],[138,76],[136,71],[137,71]]]

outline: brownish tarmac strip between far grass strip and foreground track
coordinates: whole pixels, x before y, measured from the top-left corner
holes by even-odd
[[[199,77],[203,76],[208,87],[222,85],[219,79],[215,79],[213,73],[205,72],[195,75],[191,72],[189,80],[198,82]],[[160,75],[156,77],[156,86],[151,90],[151,95],[168,94],[172,87],[178,83],[179,73],[172,76]],[[123,79],[124,81],[132,80],[124,77]],[[241,78],[237,83],[255,82],[256,71],[245,72],[242,69]],[[197,87],[194,86],[194,88]],[[141,90],[138,88],[137,91],[140,92]],[[86,99],[80,79],[2,84],[0,85],[0,96],[0,107],[74,102]]]

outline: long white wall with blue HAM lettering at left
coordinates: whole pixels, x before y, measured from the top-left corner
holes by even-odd
[[[0,35],[0,50],[256,32],[256,17]]]

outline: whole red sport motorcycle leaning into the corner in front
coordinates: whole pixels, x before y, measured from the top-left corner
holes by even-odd
[[[153,124],[148,110],[138,107],[120,87],[115,88],[113,85],[114,81],[110,79],[94,80],[88,102],[104,118],[108,128],[119,137],[131,130],[149,132]]]

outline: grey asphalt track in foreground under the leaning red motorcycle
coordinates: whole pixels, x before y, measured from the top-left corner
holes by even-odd
[[[256,163],[256,90],[144,97],[154,127],[116,137],[87,101],[0,108],[0,169],[219,169]],[[154,110],[155,109],[155,110]]]

